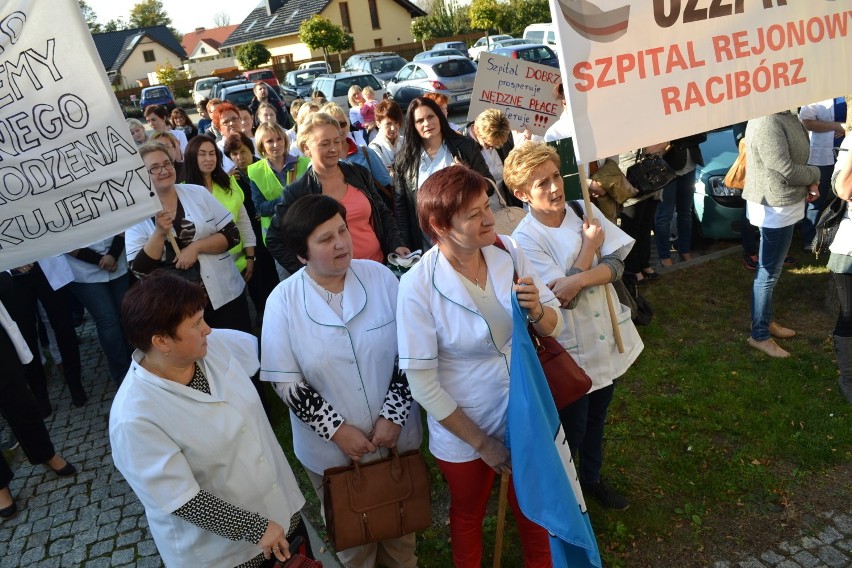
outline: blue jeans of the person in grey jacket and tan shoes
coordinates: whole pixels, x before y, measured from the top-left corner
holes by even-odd
[[[781,269],[784,257],[790,250],[795,225],[780,229],[760,229],[760,248],[757,273],[751,293],[751,336],[764,341],[769,339],[769,324],[772,322],[772,292]]]

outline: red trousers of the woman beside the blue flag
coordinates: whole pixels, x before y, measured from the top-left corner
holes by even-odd
[[[450,487],[453,564],[456,568],[480,568],[482,521],[497,473],[481,459],[463,463],[437,461]],[[521,513],[514,483],[509,484],[509,505],[521,536],[524,567],[550,568],[550,539],[547,531]]]

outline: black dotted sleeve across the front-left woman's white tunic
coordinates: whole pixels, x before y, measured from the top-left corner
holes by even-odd
[[[260,542],[269,519],[241,509],[203,489],[172,514],[230,540]]]

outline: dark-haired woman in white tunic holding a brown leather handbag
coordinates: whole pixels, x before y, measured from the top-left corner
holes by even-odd
[[[261,379],[290,407],[293,449],[322,501],[326,469],[418,448],[420,417],[395,365],[396,277],[352,259],[346,208],[307,195],[281,227],[305,267],[266,302]],[[338,558],[347,568],[414,568],[414,549],[410,533],[339,550]]]

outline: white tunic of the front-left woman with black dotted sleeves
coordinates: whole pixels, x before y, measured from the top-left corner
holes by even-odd
[[[109,420],[116,468],[145,506],[166,566],[237,566],[257,545],[173,515],[202,489],[283,527],[305,503],[249,377],[257,340],[216,329],[199,361],[211,394],[157,377],[136,351]]]

